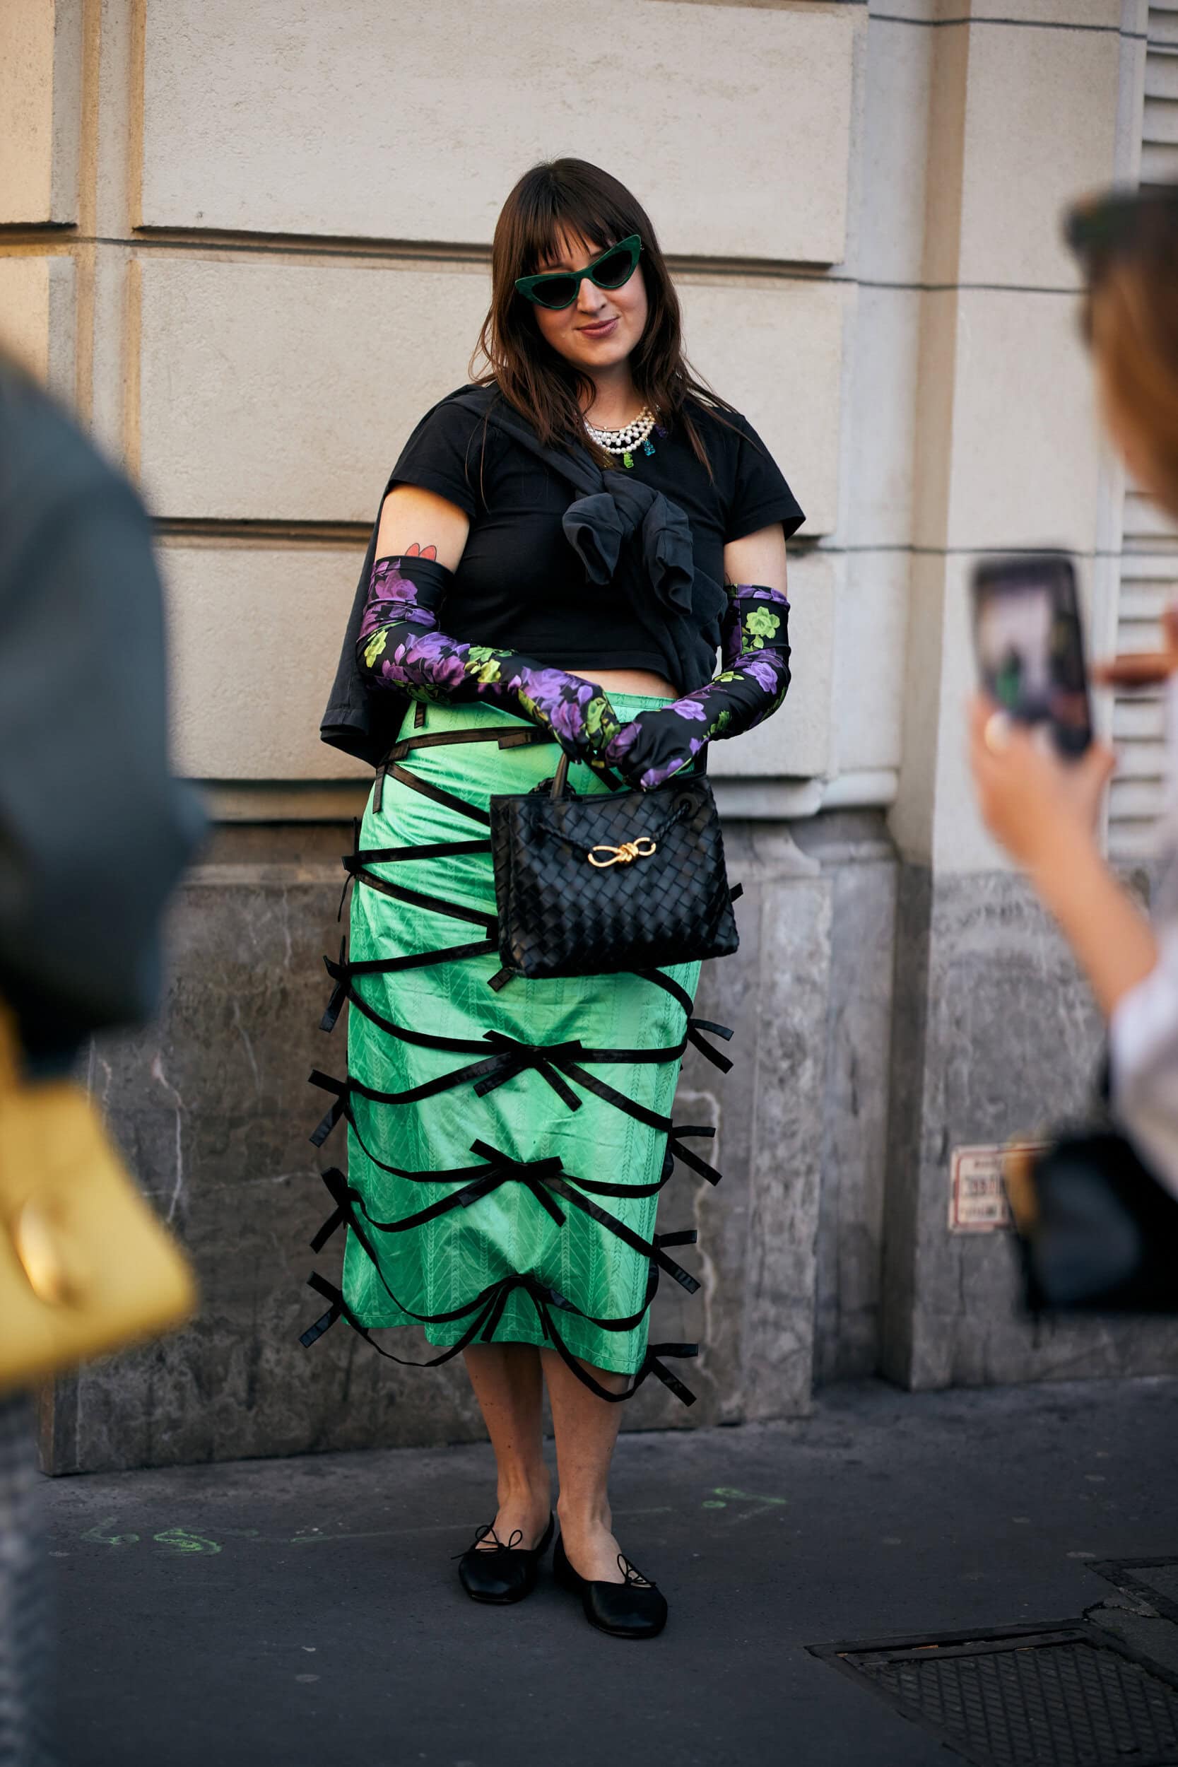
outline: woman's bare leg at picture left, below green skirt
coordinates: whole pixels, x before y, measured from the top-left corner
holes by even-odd
[[[495,1449],[495,1532],[507,1544],[519,1528],[523,1539],[517,1544],[532,1548],[547,1527],[553,1502],[540,1437],[540,1352],[530,1343],[475,1343],[463,1350],[463,1357]],[[486,1544],[493,1543],[487,1539]]]

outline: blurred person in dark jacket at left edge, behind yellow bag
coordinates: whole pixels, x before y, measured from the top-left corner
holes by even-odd
[[[0,352],[0,1009],[26,1085],[159,993],[159,917],[201,832],[168,772],[150,525]],[[0,1763],[44,1753],[48,1638],[28,1394],[0,1396]]]

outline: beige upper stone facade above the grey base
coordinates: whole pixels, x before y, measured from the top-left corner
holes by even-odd
[[[1136,175],[1146,14],[874,14],[608,0],[586,48],[539,0],[11,0],[4,332],[161,521],[177,751],[214,809],[355,800],[316,719],[362,530],[466,376],[505,191],[578,152],[652,210],[696,364],[809,516],[797,684],[717,753],[729,808],[894,802],[908,855],[994,862],[941,719],[963,578],[978,548],[1061,542],[1114,626],[1120,486],[1058,216]],[[284,620],[281,694],[224,643],[242,615]]]

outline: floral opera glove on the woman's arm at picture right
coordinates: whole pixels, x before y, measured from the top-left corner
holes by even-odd
[[[759,583],[728,587],[721,671],[705,687],[639,712],[606,746],[606,760],[631,786],[662,785],[714,737],[752,730],[786,698],[789,603]]]

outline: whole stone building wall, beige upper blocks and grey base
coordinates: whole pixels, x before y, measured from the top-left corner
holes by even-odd
[[[1174,1366],[1166,1331],[1037,1338],[1003,1235],[950,1237],[952,1147],[1076,1103],[1099,1027],[970,808],[971,557],[1070,546],[1116,617],[1058,212],[1130,178],[1143,0],[9,0],[0,327],[140,479],[168,583],[175,749],[215,818],[157,1027],[90,1074],[205,1286],[198,1325],[46,1396],[46,1461],[442,1440],[461,1375],[297,1332],[325,1212],[307,1067],[337,853],[366,783],[318,716],[367,527],[417,415],[466,378],[521,170],[595,159],[650,209],[701,373],[763,433],[791,542],[784,712],[719,746],[736,1027],[682,1115],[726,1179],[701,1226],[699,1405],[812,1382]],[[267,636],[281,620],[283,677]],[[336,1039],[341,1032],[336,1032]],[[680,1186],[682,1180],[676,1180]],[[323,1198],[323,1200],[320,1200]]]

